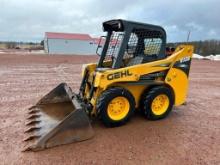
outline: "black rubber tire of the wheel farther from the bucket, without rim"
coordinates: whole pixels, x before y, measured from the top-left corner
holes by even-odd
[[[153,100],[159,95],[166,95],[169,99],[169,104],[168,104],[168,108],[166,109],[166,111],[158,115],[153,112],[151,107],[152,107]],[[153,87],[152,89],[150,89],[149,92],[146,93],[143,99],[144,99],[143,100],[144,107],[142,108],[143,114],[146,116],[148,120],[159,120],[159,119],[163,119],[167,117],[169,113],[171,112],[173,108],[173,104],[174,104],[173,92],[170,88],[165,87],[165,86]]]

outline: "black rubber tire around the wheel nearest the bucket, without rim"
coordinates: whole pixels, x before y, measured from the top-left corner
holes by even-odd
[[[107,108],[111,100],[119,96],[125,97],[128,100],[129,105],[130,105],[129,111],[123,119],[113,120],[109,117]],[[102,122],[104,123],[106,127],[121,126],[125,124],[133,115],[135,111],[135,100],[132,94],[124,88],[120,88],[120,87],[110,88],[104,91],[101,94],[101,96],[98,98],[97,104],[96,104],[96,110],[98,113],[98,117],[102,120]]]

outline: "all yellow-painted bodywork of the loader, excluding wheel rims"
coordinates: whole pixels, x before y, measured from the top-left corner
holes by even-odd
[[[107,69],[105,71],[98,72],[95,71],[97,64],[93,63],[93,64],[85,65],[83,67],[83,75],[85,74],[85,68],[89,70],[89,75],[90,75],[89,81],[92,81],[93,76],[95,75],[94,87],[96,87],[96,92],[94,93],[93,98],[90,101],[90,103],[94,107],[92,114],[96,114],[95,105],[101,93],[106,89],[114,86],[121,86],[129,90],[135,98],[136,108],[137,108],[140,102],[140,96],[143,93],[143,91],[147,88],[147,85],[128,85],[126,83],[138,82],[140,76],[147,75],[149,73],[160,72],[160,71],[168,71],[167,76],[165,80],[159,79],[159,80],[155,80],[155,82],[160,81],[170,86],[175,95],[174,104],[181,105],[186,100],[187,89],[188,89],[188,77],[183,71],[181,71],[180,69],[175,69],[173,68],[173,66],[177,61],[180,61],[184,57],[192,58],[192,54],[193,54],[193,46],[180,45],[176,48],[175,52],[171,56],[165,59],[144,63],[144,64],[138,64],[135,66],[124,67],[119,69]],[[109,62],[106,62],[105,65],[107,65],[108,63]],[[129,72],[129,75],[121,76],[121,77],[116,76],[116,78],[112,80],[108,79],[109,74],[117,75],[118,73],[121,72],[123,73]],[[86,98],[88,98],[89,95],[88,93],[89,93],[89,89],[87,87],[85,94]]]

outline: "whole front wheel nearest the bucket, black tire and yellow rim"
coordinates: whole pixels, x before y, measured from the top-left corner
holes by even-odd
[[[110,88],[99,97],[96,109],[107,127],[116,127],[130,119],[135,110],[135,100],[126,89]]]

